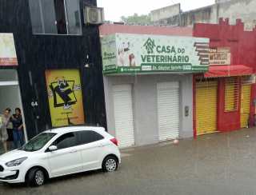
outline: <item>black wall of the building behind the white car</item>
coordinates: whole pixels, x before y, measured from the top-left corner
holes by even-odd
[[[80,4],[81,9],[83,6],[96,6],[96,0],[81,0]],[[82,25],[81,36],[34,35],[28,0],[1,0],[0,33],[14,34],[18,78],[29,138],[51,127],[46,70],[80,70],[86,124],[106,126],[98,26]],[[86,63],[90,66],[85,67]],[[32,107],[32,101],[37,101],[38,106]]]

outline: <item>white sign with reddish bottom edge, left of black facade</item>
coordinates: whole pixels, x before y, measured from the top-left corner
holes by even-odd
[[[0,34],[0,66],[18,66],[13,34]]]

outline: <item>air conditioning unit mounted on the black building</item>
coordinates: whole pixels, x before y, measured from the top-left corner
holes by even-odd
[[[84,22],[94,25],[102,24],[104,22],[104,9],[102,7],[86,6],[84,8]]]

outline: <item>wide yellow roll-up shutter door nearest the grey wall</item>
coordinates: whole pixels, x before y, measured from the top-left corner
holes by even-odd
[[[197,135],[214,133],[217,129],[217,81],[196,82]]]

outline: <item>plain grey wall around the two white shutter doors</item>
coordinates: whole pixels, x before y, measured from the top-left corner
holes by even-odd
[[[157,83],[180,82],[180,137],[193,137],[192,75],[140,75],[104,77],[108,132],[115,135],[113,85],[132,84],[135,145],[158,142]],[[185,117],[185,106],[190,107]]]

